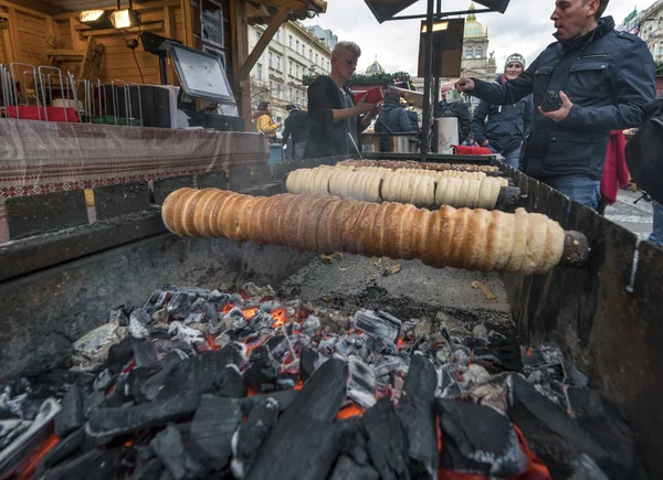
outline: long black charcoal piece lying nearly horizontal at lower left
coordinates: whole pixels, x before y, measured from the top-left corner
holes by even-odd
[[[193,415],[200,404],[200,395],[182,391],[179,395],[155,403],[124,407],[94,408],[85,425],[91,437],[131,434],[143,428],[162,426]]]

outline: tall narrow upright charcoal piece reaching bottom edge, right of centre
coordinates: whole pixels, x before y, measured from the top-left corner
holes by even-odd
[[[408,436],[408,463],[415,479],[438,478],[438,434],[433,414],[436,376],[432,362],[424,355],[414,354],[397,412]]]

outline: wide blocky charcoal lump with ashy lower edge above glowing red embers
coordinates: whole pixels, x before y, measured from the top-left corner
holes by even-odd
[[[512,423],[494,408],[435,399],[442,430],[442,467],[469,473],[512,477],[527,470]]]

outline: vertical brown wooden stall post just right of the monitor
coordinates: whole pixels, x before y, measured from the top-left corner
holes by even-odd
[[[249,55],[249,22],[246,3],[243,0],[231,0],[230,24],[232,31],[233,87],[240,115],[244,118],[244,128],[251,131],[251,84],[249,78],[240,78],[238,71]]]

